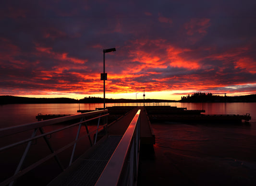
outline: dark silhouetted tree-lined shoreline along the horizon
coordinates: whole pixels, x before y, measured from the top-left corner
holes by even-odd
[[[219,96],[216,99],[200,99],[200,97],[189,97],[190,99],[183,100],[161,100],[161,99],[109,99],[106,98],[106,103],[256,103],[256,94],[244,96]],[[218,98],[218,99],[217,99]],[[99,97],[85,97],[84,99],[76,100],[72,98],[30,98],[10,95],[0,96],[0,105],[6,104],[79,104],[79,103],[103,103],[104,99]]]

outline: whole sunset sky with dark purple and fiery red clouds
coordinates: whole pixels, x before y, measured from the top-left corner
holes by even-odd
[[[255,0],[2,0],[0,95],[256,93]]]

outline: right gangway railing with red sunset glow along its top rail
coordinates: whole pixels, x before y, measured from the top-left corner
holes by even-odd
[[[136,185],[140,146],[140,110],[134,116],[96,186]]]

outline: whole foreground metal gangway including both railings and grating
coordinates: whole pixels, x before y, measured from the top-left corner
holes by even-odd
[[[140,110],[134,116],[134,119],[127,128],[125,134],[121,137],[108,135],[108,115],[108,110],[106,109],[72,116],[64,116],[21,126],[0,128],[1,139],[8,139],[10,137],[14,139],[15,136],[17,137],[17,134],[19,133],[30,133],[31,135],[30,137],[25,139],[17,138],[17,141],[0,147],[0,153],[2,154],[12,148],[15,149],[17,146],[24,146],[24,144],[26,144],[23,155],[19,163],[17,163],[15,172],[10,177],[4,180],[0,180],[0,186],[12,186],[16,183],[17,185],[19,185],[19,178],[24,176],[24,174],[33,171],[33,169],[49,161],[50,159],[54,159],[62,170],[62,173],[49,183],[49,185],[56,185],[56,183],[60,183],[59,179],[63,181],[63,177],[61,178],[62,175],[65,175],[66,173],[68,173],[69,175],[74,175],[70,174],[70,172],[72,171],[79,172],[80,170],[77,165],[79,165],[81,161],[84,161],[85,157],[88,158],[88,154],[92,155],[95,152],[98,156],[100,156],[103,152],[98,151],[98,149],[102,149],[102,144],[106,144],[108,141],[111,141],[111,139],[112,141],[113,139],[115,139],[116,141],[115,147],[112,148],[113,153],[109,155],[109,160],[101,161],[103,162],[103,164],[105,162],[105,165],[107,165],[102,168],[102,174],[99,174],[97,172],[95,173],[95,175],[91,175],[92,173],[90,173],[89,176],[92,176],[94,179],[90,178],[89,180],[93,181],[93,185],[97,184],[98,186],[105,185],[106,183],[109,183],[108,185],[116,185],[117,183],[122,183],[122,185],[134,185],[134,183],[136,183],[138,170],[138,154],[140,144]],[[89,131],[87,123],[95,121],[97,119],[97,127],[94,127],[92,131]],[[55,126],[58,126],[60,123],[64,123],[63,125],[61,125],[61,128],[55,128]],[[86,133],[81,132],[81,129],[83,127],[85,127],[86,129]],[[47,128],[46,132],[44,131],[44,128]],[[50,141],[51,136],[56,133],[61,133],[64,130],[71,130],[71,128],[74,128],[74,130],[76,130],[75,139],[69,141],[68,144],[65,144],[61,148],[54,149]],[[92,136],[94,139],[92,139]],[[83,141],[86,138],[88,139],[87,143],[90,144],[91,148],[87,149],[86,152],[77,157],[77,159],[74,159],[75,153],[77,151],[77,143]],[[24,162],[28,156],[31,146],[37,145],[37,140],[39,139],[46,142],[50,150],[50,154],[47,154],[45,157],[41,158],[37,162],[26,165],[26,167],[23,168]],[[62,140],[62,138],[60,138],[60,140]],[[68,163],[62,163],[62,158],[60,158],[59,155],[67,149],[72,149],[72,153],[69,157]],[[111,148],[107,147],[105,149],[109,150]],[[65,161],[67,162],[67,160]],[[89,160],[89,162],[92,162],[92,160]],[[67,165],[65,166],[65,164]],[[93,167],[93,165],[90,164],[89,166]],[[74,169],[74,167],[76,169]],[[72,178],[70,180],[72,181]],[[71,184],[70,180],[68,182],[68,185],[78,185],[77,183]],[[75,180],[77,180],[77,177]],[[83,184],[85,184],[86,179],[81,179],[81,181],[83,182]],[[63,182],[60,184],[65,185],[65,183]]]

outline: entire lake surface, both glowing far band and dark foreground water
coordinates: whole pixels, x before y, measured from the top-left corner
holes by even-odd
[[[107,106],[112,105],[117,104]],[[171,121],[152,123],[156,144],[150,152],[141,151],[138,185],[256,185],[256,103],[169,103],[169,105],[186,107],[188,110],[204,109],[205,114],[249,113],[252,120],[250,125],[204,123],[192,125]],[[98,107],[103,107],[103,104],[0,105],[0,128],[36,122],[39,113],[78,114],[79,108],[94,110]],[[51,140],[61,139],[61,142],[64,142],[71,133],[75,134],[76,129],[62,136],[53,136]],[[40,141],[37,143],[39,144]],[[41,143],[45,145],[44,141]],[[43,154],[41,149],[32,149],[30,152],[31,158]],[[16,166],[20,156],[13,156],[14,161],[11,159],[12,156],[0,153],[1,173],[11,164]],[[60,172],[58,166],[50,166],[56,174]],[[33,176],[38,185],[44,186],[50,181],[48,179],[50,176],[55,176],[51,171],[39,175],[36,175],[36,172],[28,174],[21,182],[33,185],[33,182],[28,181],[30,176]],[[10,174],[13,174],[13,170],[10,170]]]

